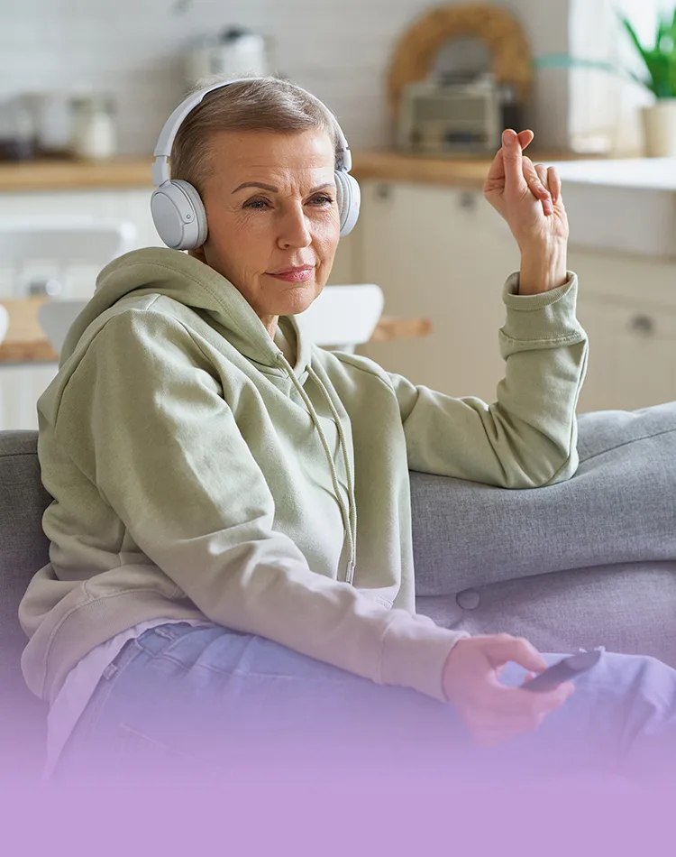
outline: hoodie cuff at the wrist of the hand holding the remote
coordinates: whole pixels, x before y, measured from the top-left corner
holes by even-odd
[[[448,702],[443,693],[443,668],[453,646],[469,636],[440,628],[426,616],[397,616],[383,637],[380,684],[412,687]]]

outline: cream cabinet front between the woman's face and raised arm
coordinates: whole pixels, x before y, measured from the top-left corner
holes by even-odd
[[[424,338],[367,346],[388,371],[456,396],[492,401],[504,372],[501,291],[518,253],[480,192],[364,182],[357,250],[361,280],[385,313],[430,318]]]

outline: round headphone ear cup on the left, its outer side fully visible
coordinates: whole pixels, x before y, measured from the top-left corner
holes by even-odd
[[[152,220],[172,250],[195,250],[208,235],[206,211],[197,190],[181,179],[166,181],[151,196]]]

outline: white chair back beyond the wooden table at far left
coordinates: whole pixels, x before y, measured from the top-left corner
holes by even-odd
[[[10,292],[15,298],[56,295],[64,293],[69,270],[87,266],[98,272],[117,256],[134,249],[136,242],[136,226],[126,220],[0,219],[0,268],[10,281]],[[40,276],[36,277],[35,272],[40,272]]]

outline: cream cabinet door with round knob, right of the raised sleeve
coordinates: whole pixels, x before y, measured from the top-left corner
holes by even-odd
[[[634,410],[676,399],[676,310],[582,292],[578,318],[589,335],[580,413]]]

